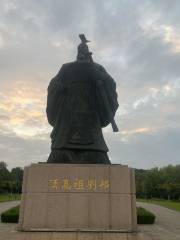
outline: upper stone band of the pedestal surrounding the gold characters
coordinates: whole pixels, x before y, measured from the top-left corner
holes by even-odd
[[[131,169],[121,165],[69,165],[69,164],[33,164],[28,167],[25,175],[28,178],[27,184],[23,187],[26,192],[63,192],[62,189],[48,188],[48,180],[83,179],[87,184],[88,179],[96,179],[97,185],[101,180],[110,181],[111,193],[131,193],[135,192],[135,185]],[[131,176],[132,175],[132,176]],[[26,189],[26,190],[25,190]],[[88,192],[89,190],[74,190],[71,192]],[[108,189],[98,188],[96,192],[108,191]]]

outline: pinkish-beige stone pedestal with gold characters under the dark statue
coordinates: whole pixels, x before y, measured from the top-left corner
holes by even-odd
[[[25,168],[19,230],[136,231],[134,171],[122,165]]]

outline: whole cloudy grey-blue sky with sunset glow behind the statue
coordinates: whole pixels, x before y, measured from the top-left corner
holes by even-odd
[[[1,0],[0,161],[47,160],[47,86],[85,33],[117,83],[120,132],[103,130],[112,163],[180,163],[179,9],[179,0]]]

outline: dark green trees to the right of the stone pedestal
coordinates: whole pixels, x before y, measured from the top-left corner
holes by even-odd
[[[135,175],[138,198],[180,200],[180,165],[136,169]]]

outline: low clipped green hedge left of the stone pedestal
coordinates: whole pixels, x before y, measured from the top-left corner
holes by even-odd
[[[4,223],[18,223],[19,206],[13,207],[1,214],[1,221]]]

